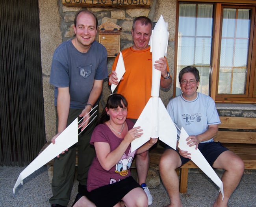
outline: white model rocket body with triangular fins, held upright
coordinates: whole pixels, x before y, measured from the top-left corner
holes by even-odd
[[[159,138],[170,147],[176,149],[177,129],[171,120],[163,102],[159,98],[161,71],[154,68],[155,61],[165,56],[168,44],[168,31],[163,16],[158,19],[151,35],[152,51],[152,87],[151,98],[143,109],[134,127],[140,126],[143,129],[143,135],[132,141],[133,152],[150,137]]]

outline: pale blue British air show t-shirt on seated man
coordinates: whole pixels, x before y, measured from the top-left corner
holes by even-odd
[[[183,127],[188,135],[198,135],[209,125],[221,124],[213,99],[199,92],[192,101],[185,100],[182,94],[176,96],[168,103],[167,111],[178,128]],[[211,141],[213,138],[204,142]]]

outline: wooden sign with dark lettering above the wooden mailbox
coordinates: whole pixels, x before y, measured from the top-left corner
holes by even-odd
[[[104,8],[149,8],[150,0],[62,0],[64,6]]]

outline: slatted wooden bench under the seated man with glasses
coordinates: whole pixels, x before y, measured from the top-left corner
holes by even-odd
[[[256,169],[256,118],[220,116],[221,124],[215,141],[236,153],[245,163],[245,169]],[[150,151],[150,166],[158,166],[163,148]],[[180,193],[187,192],[189,168],[198,168],[193,161],[180,167]]]

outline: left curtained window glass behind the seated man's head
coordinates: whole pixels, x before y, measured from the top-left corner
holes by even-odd
[[[180,94],[178,74],[188,65],[199,70],[197,91],[209,95],[213,5],[180,4],[179,11],[176,95]]]

